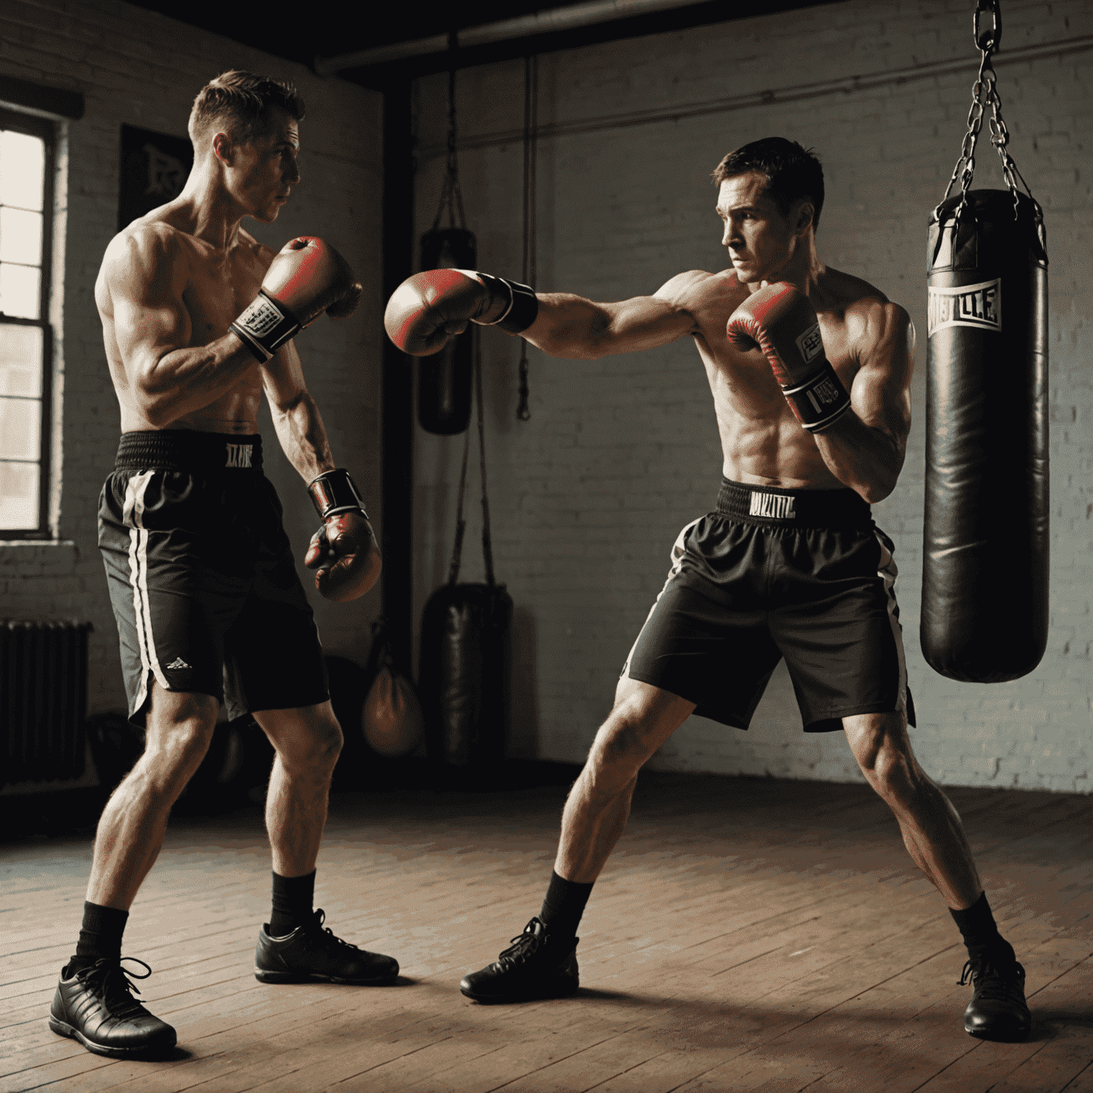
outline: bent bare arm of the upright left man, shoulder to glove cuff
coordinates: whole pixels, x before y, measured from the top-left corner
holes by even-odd
[[[214,402],[256,367],[234,333],[190,344],[188,280],[189,262],[173,233],[146,225],[110,243],[96,286],[137,408],[156,427]]]

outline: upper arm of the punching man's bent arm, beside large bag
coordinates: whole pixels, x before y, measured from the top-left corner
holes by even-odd
[[[915,328],[902,307],[884,303],[869,308],[858,357],[861,366],[850,387],[854,411],[902,453],[910,432],[915,364]]]

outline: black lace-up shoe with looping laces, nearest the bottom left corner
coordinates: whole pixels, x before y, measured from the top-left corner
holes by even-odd
[[[134,975],[121,960],[134,961],[148,974]],[[132,980],[146,979],[152,969],[136,956],[121,960],[97,960],[71,976],[67,966],[62,968],[49,1007],[49,1027],[78,1039],[89,1051],[115,1059],[169,1050],[177,1042],[175,1030],[132,996],[134,990],[140,994]]]

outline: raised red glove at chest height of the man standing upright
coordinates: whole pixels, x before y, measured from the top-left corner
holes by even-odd
[[[324,312],[332,319],[352,315],[363,291],[349,262],[329,243],[302,235],[278,251],[258,295],[232,331],[265,364]]]

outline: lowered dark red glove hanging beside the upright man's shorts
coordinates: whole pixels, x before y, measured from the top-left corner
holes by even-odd
[[[355,600],[372,588],[381,568],[361,493],[343,468],[320,474],[307,492],[322,525],[312,536],[304,565],[318,571],[320,596],[338,603]]]

